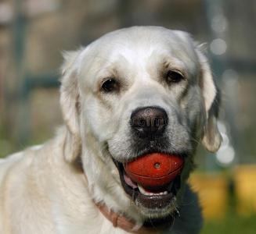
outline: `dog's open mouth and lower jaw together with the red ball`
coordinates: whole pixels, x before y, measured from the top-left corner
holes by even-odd
[[[116,162],[116,165],[124,191],[142,210],[164,214],[175,207],[184,166],[182,156],[146,154],[128,163]]]

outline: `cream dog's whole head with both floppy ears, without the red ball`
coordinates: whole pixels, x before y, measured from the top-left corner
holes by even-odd
[[[221,143],[207,59],[181,31],[132,27],[67,53],[60,103],[66,160],[79,155],[94,199],[137,220],[175,212],[197,143],[203,138],[208,151]],[[150,195],[124,164],[153,153],[176,155],[184,168]]]

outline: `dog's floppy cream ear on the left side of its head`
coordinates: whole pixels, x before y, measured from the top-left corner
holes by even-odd
[[[62,79],[60,86],[60,106],[67,125],[64,144],[64,157],[73,162],[81,154],[81,135],[79,129],[80,97],[78,92],[78,69],[74,65],[80,51],[71,51],[63,56]]]

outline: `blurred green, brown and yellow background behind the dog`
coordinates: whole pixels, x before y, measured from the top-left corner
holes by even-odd
[[[204,207],[201,233],[255,233],[254,0],[0,0],[0,158],[43,143],[63,123],[61,51],[134,25],[186,30],[206,42],[223,93],[223,144],[217,154],[199,147],[190,179]]]

